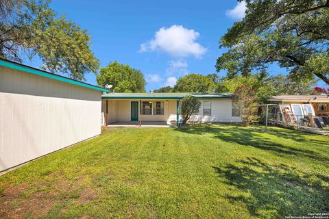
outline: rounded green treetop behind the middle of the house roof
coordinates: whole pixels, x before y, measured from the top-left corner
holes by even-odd
[[[213,92],[215,88],[212,77],[193,73],[180,77],[173,89],[175,92]]]

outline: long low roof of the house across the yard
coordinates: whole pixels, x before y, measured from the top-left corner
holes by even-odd
[[[183,99],[187,94],[198,99],[230,99],[229,93],[108,93],[101,95],[102,99]]]

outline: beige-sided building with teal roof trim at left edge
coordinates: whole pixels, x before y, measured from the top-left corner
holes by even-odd
[[[102,91],[0,59],[0,171],[99,136]]]

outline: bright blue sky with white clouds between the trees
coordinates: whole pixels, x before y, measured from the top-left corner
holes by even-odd
[[[244,7],[234,0],[51,2],[58,14],[88,30],[101,66],[117,60],[141,69],[147,91],[172,86],[188,73],[215,73],[217,57],[223,53],[219,38],[241,20]],[[27,64],[38,65],[32,62]],[[284,73],[284,69],[272,66],[269,73]],[[86,81],[97,84],[92,73]]]

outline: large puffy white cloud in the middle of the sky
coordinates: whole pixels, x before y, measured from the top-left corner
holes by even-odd
[[[199,35],[194,29],[186,29],[182,25],[162,27],[153,39],[141,44],[140,51],[164,51],[175,57],[201,57],[207,49],[195,42]]]

